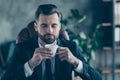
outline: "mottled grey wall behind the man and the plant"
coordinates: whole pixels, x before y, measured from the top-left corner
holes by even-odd
[[[88,16],[82,25],[90,27],[92,23],[90,0],[0,0],[0,43],[14,40],[19,31],[34,20],[36,8],[43,3],[56,4],[64,18],[71,8],[77,8]]]

